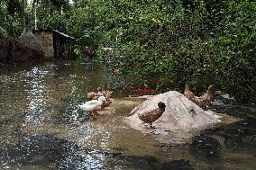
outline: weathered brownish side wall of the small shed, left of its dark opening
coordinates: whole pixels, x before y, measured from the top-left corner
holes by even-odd
[[[53,49],[53,37],[51,31],[40,31],[34,32],[35,37],[38,40],[41,40],[44,52],[44,58],[53,58],[54,49]]]

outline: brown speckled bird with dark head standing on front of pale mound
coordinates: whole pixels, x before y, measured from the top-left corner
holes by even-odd
[[[165,112],[165,107],[165,103],[160,102],[158,103],[158,108],[148,112],[140,112],[138,113],[138,117],[144,123],[149,123],[151,128],[153,128],[152,123],[161,117],[162,113]]]

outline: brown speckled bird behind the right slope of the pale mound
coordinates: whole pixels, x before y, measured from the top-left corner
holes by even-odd
[[[214,92],[215,86],[210,85],[205,94],[197,96],[189,90],[188,86],[185,86],[184,95],[187,97],[187,99],[191,100],[193,103],[196,103],[202,109],[207,110],[214,98]]]

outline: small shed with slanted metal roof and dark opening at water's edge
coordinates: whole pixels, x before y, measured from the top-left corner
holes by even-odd
[[[56,30],[34,30],[33,34],[42,42],[44,58],[63,58],[67,45],[75,38]]]

